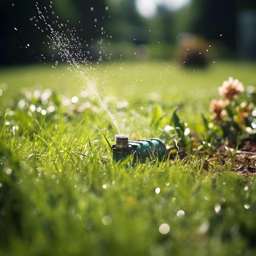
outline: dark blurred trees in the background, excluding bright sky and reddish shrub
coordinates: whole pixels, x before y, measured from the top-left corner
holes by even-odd
[[[47,34],[40,32],[35,22],[30,20],[33,16],[38,17],[35,1],[0,0],[0,64],[36,61],[41,54],[51,58],[49,47],[42,43],[48,41]],[[69,27],[76,28],[77,36],[86,41],[83,47],[88,44],[94,58],[99,55],[99,40],[110,40],[110,35],[112,43],[125,43],[125,47],[158,42],[161,42],[158,45],[161,47],[164,45],[162,42],[174,45],[175,36],[181,32],[193,32],[207,40],[220,41],[234,51],[239,12],[256,10],[255,0],[191,0],[189,5],[178,11],[160,5],[155,16],[144,18],[137,12],[135,2],[38,0],[38,5],[43,10],[44,6],[51,4],[56,13],[52,18],[58,15],[60,22],[69,20]]]

